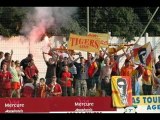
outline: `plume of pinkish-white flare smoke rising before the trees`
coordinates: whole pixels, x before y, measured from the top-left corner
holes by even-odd
[[[30,45],[33,45],[41,40],[47,29],[54,30],[68,26],[76,11],[76,7],[34,7],[23,21],[21,33],[27,36]]]

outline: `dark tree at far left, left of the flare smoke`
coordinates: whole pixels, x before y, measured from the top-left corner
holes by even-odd
[[[18,35],[27,8],[0,7],[0,34],[3,36]]]

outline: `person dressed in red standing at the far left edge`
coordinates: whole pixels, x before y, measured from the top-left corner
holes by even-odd
[[[0,71],[0,94],[2,97],[11,97],[11,80],[12,75],[7,71],[8,65],[4,63],[2,65],[2,71]]]

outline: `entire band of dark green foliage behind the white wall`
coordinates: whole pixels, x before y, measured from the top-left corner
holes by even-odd
[[[90,7],[90,32],[107,33],[125,38],[127,42],[140,36],[151,18],[155,7]],[[23,20],[33,7],[0,7],[0,35],[19,35]],[[146,32],[149,35],[160,35],[160,11],[152,20]],[[52,35],[69,36],[70,33],[87,34],[87,8],[79,7],[77,13],[63,25],[48,29]]]

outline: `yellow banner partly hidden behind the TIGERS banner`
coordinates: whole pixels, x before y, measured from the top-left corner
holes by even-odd
[[[109,41],[109,37],[110,37],[109,34],[107,34],[107,33],[93,33],[93,32],[89,32],[88,36],[100,38],[100,46],[101,47],[108,47],[108,41]]]

